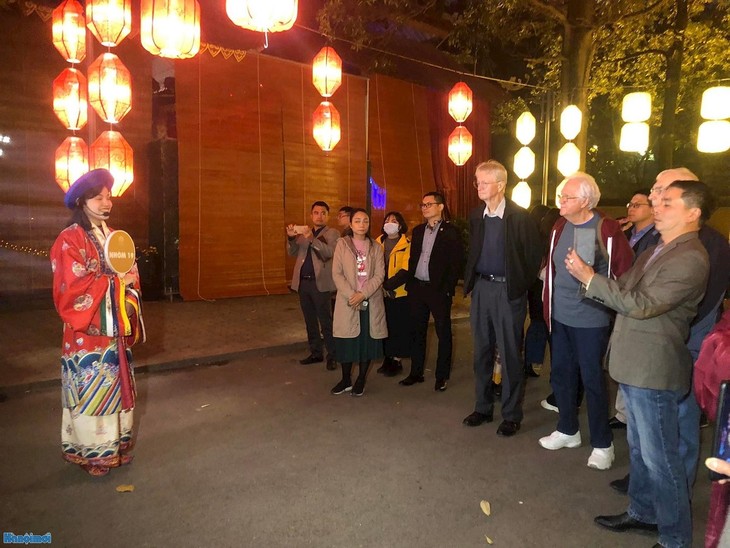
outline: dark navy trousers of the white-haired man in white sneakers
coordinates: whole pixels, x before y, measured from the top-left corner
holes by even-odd
[[[560,410],[558,432],[572,436],[579,430],[578,386],[583,380],[588,405],[591,446],[606,448],[613,442],[608,426],[608,392],[603,373],[611,327],[570,327],[553,320],[550,384]]]

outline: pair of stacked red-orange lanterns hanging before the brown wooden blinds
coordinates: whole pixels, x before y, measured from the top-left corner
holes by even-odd
[[[323,47],[312,60],[312,84],[325,99],[312,114],[312,136],[325,152],[333,150],[342,138],[340,113],[329,99],[342,84],[342,58],[329,47]]]

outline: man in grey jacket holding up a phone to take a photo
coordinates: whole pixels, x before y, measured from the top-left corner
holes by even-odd
[[[291,288],[299,293],[304,322],[307,325],[309,356],[299,360],[302,365],[324,361],[322,337],[327,348],[327,369],[337,368],[335,340],[332,337],[332,305],[330,294],[335,291],[332,281],[332,256],[340,237],[327,226],[329,206],[326,202],[312,204],[312,224],[287,225],[287,252],[296,256]],[[321,334],[320,334],[321,330]]]

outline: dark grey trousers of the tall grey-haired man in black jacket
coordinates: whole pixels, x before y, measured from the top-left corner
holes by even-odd
[[[471,332],[474,340],[475,411],[494,412],[494,346],[502,355],[502,418],[522,422],[525,370],[522,330],[527,297],[510,299],[507,284],[477,278],[471,294]]]

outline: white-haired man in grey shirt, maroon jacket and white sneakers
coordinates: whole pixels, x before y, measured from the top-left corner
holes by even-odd
[[[585,242],[585,247],[578,246],[579,252],[596,272],[615,278],[631,267],[634,254],[621,225],[594,209],[600,198],[596,181],[582,172],[566,179],[559,196],[561,218],[550,235],[543,310],[552,332],[550,384],[560,417],[556,430],[540,438],[539,443],[550,450],[581,445],[575,402],[582,379],[593,447],[588,466],[607,470],[613,464],[614,449],[608,425],[603,356],[612,314],[600,303],[580,295],[580,282],[564,264],[565,256],[576,247],[576,242]]]

